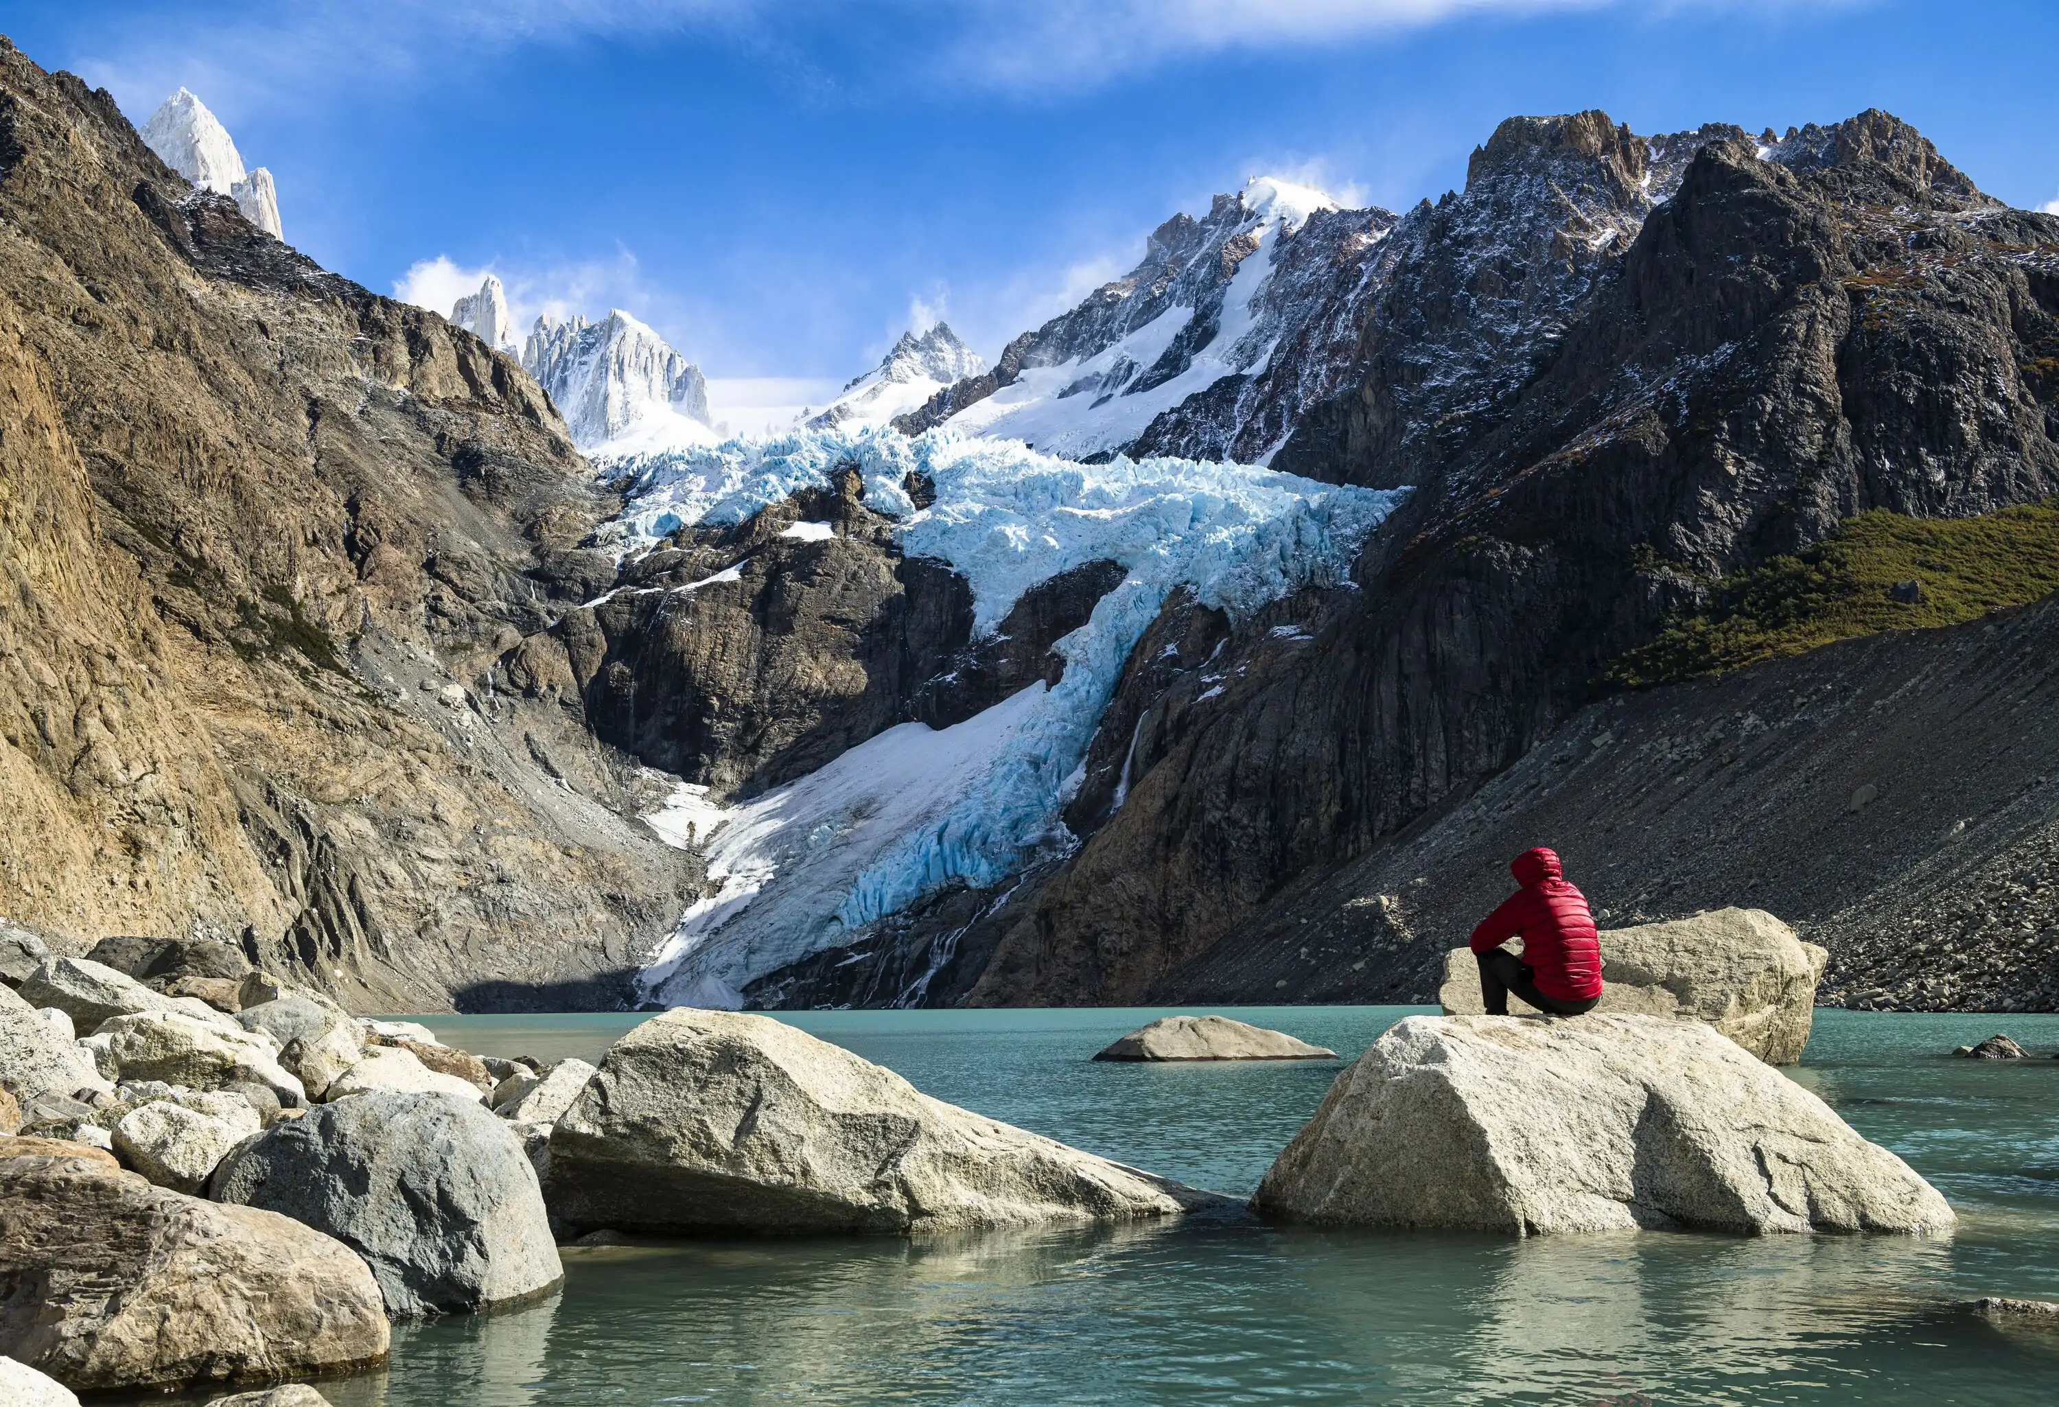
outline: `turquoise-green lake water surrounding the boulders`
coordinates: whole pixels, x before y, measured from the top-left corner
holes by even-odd
[[[1357,1057],[1417,1007],[1227,1014]],[[1250,1193],[1340,1061],[1095,1065],[1163,1011],[782,1014],[918,1088]],[[488,1055],[597,1061],[632,1016],[424,1018]],[[945,1242],[568,1248],[533,1308],[399,1327],[338,1407],[560,1403],[2051,1403],[2059,1061],[1954,1061],[2055,1016],[1818,1011],[1793,1077],[1907,1158],[1950,1238],[1312,1232],[1248,1217]]]

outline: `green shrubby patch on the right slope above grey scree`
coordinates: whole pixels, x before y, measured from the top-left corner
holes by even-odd
[[[1649,562],[1639,562],[1647,567]],[[1915,581],[1915,602],[1896,599]],[[1606,684],[1647,688],[1880,630],[1952,626],[2059,591],[2059,499],[1987,517],[1876,509],[1798,556],[1723,577],[1709,604],[1629,651]],[[1907,595],[1907,589],[1905,589]]]

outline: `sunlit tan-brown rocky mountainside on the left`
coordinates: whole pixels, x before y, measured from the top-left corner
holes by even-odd
[[[612,569],[548,398],[4,41],[0,222],[10,915],[243,941],[360,1009],[618,1001],[692,859],[620,756],[469,688]]]

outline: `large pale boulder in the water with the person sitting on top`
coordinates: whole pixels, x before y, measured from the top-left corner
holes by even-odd
[[[1410,1016],[1336,1077],[1252,1209],[1332,1226],[1931,1232],[1944,1197],[1701,1022]]]

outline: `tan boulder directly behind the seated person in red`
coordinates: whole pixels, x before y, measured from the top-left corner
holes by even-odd
[[[1596,1011],[1707,1022],[1769,1065],[1793,1065],[1808,1044],[1828,956],[1763,908],[1604,929]],[[1485,1009],[1470,950],[1445,956],[1437,1001],[1445,1016]],[[1517,997],[1509,997],[1509,1011],[1534,1016]]]

